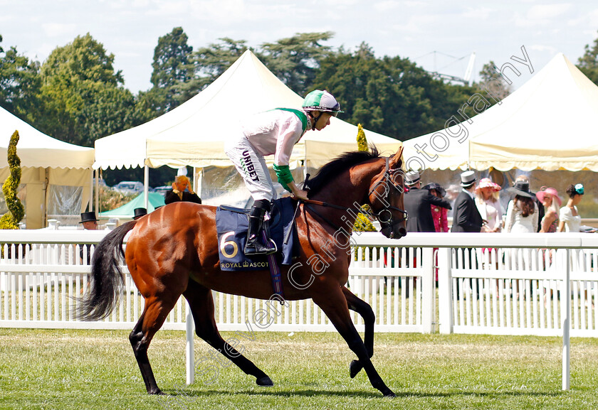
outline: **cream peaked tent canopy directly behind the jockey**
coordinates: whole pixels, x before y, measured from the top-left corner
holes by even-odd
[[[299,108],[302,102],[248,50],[205,90],[171,112],[95,141],[94,168],[231,166],[224,140],[236,136],[239,119],[277,107]],[[401,146],[372,131],[366,135],[380,151],[394,152]],[[291,159],[322,166],[357,149],[356,136],[357,126],[333,118],[326,129],[308,131]]]

